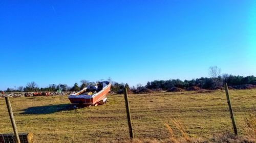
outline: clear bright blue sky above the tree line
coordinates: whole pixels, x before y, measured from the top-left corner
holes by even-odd
[[[256,75],[256,1],[0,1],[0,90]]]

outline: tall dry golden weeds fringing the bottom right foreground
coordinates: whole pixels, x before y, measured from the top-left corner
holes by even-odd
[[[122,140],[117,142],[124,142],[124,143],[161,143],[161,142],[173,142],[173,143],[254,143],[256,142],[255,139],[255,128],[254,128],[254,122],[255,121],[255,115],[251,114],[249,118],[246,118],[246,130],[248,129],[248,132],[246,131],[247,135],[244,136],[238,136],[234,135],[232,133],[222,133],[222,134],[214,134],[213,137],[208,139],[203,138],[193,138],[189,137],[186,134],[185,128],[183,127],[183,124],[181,121],[177,118],[173,118],[172,122],[173,125],[175,125],[176,128],[178,128],[182,134],[182,137],[178,137],[174,134],[173,129],[166,123],[164,123],[165,127],[168,130],[169,133],[169,140],[157,140],[157,139],[132,139],[132,140]],[[253,125],[253,126],[252,126]],[[104,141],[103,141],[104,142]]]

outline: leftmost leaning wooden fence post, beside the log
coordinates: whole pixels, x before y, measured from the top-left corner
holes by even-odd
[[[14,120],[14,116],[13,116],[13,112],[12,112],[12,106],[11,106],[10,99],[9,99],[8,96],[5,97],[5,102],[6,102],[7,109],[8,109],[8,112],[9,112],[9,116],[10,116],[10,119],[11,119],[12,128],[13,128],[13,132],[14,132],[14,135],[15,135],[16,143],[20,143],[19,136],[18,136],[18,130],[17,130],[15,120]]]

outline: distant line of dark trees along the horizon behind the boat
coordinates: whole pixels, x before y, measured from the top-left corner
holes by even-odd
[[[253,84],[256,85],[256,77],[253,75],[250,76],[240,76],[240,75],[231,75],[231,74],[221,74],[221,69],[217,66],[209,67],[209,77],[201,77],[191,80],[180,80],[180,79],[169,79],[169,80],[154,80],[148,81],[145,86],[140,83],[137,83],[136,87],[130,87],[128,83],[118,83],[112,81],[109,77],[108,81],[112,83],[111,89],[113,92],[122,90],[123,88],[127,89],[162,89],[168,90],[173,87],[187,89],[189,87],[199,87],[201,89],[210,89],[212,87],[222,87],[224,82],[227,82],[228,85],[242,85],[242,84]],[[80,85],[74,83],[73,87],[69,87],[67,84],[49,84],[46,88],[39,88],[35,82],[28,82],[26,87],[17,87],[16,89],[7,88],[4,92],[68,92],[68,91],[79,91],[88,85],[88,80],[82,79]],[[3,91],[0,91],[3,92]]]

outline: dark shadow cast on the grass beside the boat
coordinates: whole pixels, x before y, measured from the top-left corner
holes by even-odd
[[[24,109],[20,114],[49,114],[55,113],[59,111],[67,111],[73,110],[72,104],[57,104],[57,105],[47,105],[47,106],[36,106],[36,107],[29,107]]]

